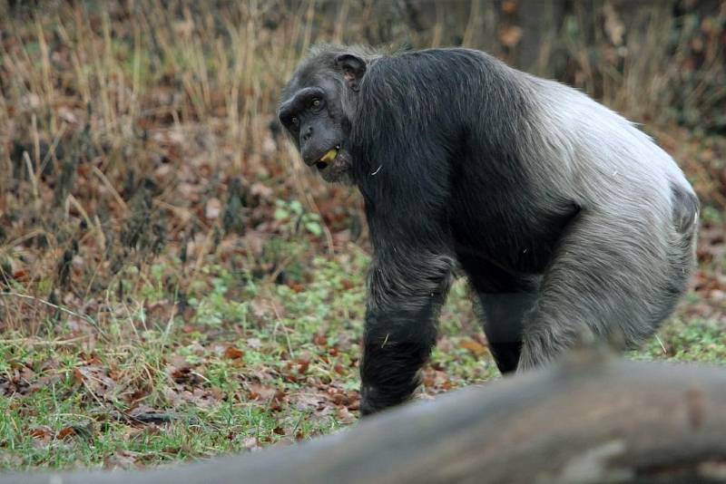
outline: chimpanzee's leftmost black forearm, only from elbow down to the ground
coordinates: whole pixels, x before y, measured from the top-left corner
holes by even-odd
[[[437,339],[452,257],[409,249],[379,251],[368,274],[364,354],[360,364],[363,415],[405,402]]]

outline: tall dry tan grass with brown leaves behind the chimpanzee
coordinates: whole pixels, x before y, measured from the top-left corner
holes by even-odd
[[[0,5],[0,330],[30,334],[69,315],[103,328],[132,313],[128,295],[153,264],[181,258],[177,284],[201,277],[240,224],[281,237],[268,220],[278,199],[319,213],[322,246],[336,250],[357,198],[295,162],[274,120],[282,83],[315,42],[451,38],[446,9],[420,27],[392,22],[385,2],[14,5]],[[477,29],[496,39],[493,5],[471,4],[461,43],[506,57],[476,44]],[[562,75],[639,121],[718,111],[725,12],[676,25],[682,19],[644,11],[647,28],[594,45],[575,12],[544,42],[538,73]],[[696,38],[698,65],[685,78]],[[230,226],[217,212],[231,207]]]

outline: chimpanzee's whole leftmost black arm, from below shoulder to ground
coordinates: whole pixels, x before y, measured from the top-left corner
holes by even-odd
[[[416,390],[418,370],[436,344],[437,313],[455,264],[446,231],[430,213],[396,204],[383,213],[367,208],[374,257],[360,365],[364,415],[404,402]]]

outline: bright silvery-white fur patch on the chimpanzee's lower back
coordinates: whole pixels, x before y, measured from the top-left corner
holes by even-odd
[[[551,150],[542,162],[574,187],[570,195],[584,208],[650,203],[668,217],[670,185],[692,190],[675,161],[633,123],[571,87],[527,77],[539,108],[532,135]]]

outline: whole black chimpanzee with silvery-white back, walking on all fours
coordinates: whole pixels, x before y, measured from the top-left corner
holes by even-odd
[[[365,201],[361,411],[404,402],[460,267],[501,372],[584,335],[633,347],[689,279],[698,199],[646,134],[476,50],[318,45],[282,92],[302,160]]]

